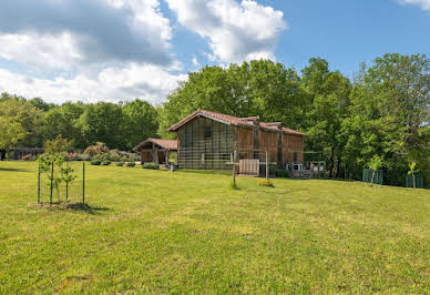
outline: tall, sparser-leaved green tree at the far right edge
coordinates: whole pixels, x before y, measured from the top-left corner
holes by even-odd
[[[383,122],[386,151],[396,155],[393,159],[424,151],[429,142],[430,60],[419,54],[386,54],[368,69],[365,84]]]

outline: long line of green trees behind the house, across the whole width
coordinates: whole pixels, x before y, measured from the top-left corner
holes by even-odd
[[[61,134],[75,148],[104,142],[130,150],[149,136],[174,138],[168,126],[196,109],[259,115],[307,133],[305,149],[327,161],[331,177],[360,179],[375,157],[390,184],[399,184],[412,163],[429,169],[430,60],[423,54],[386,54],[361,64],[354,78],[320,58],[300,73],[268,60],[205,67],[156,106],[141,100],[54,105],[7,93],[0,99],[1,125],[22,133],[22,146]]]

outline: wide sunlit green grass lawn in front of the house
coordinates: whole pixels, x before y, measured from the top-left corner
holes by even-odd
[[[0,162],[0,293],[429,293],[430,191],[88,166],[92,212]]]

